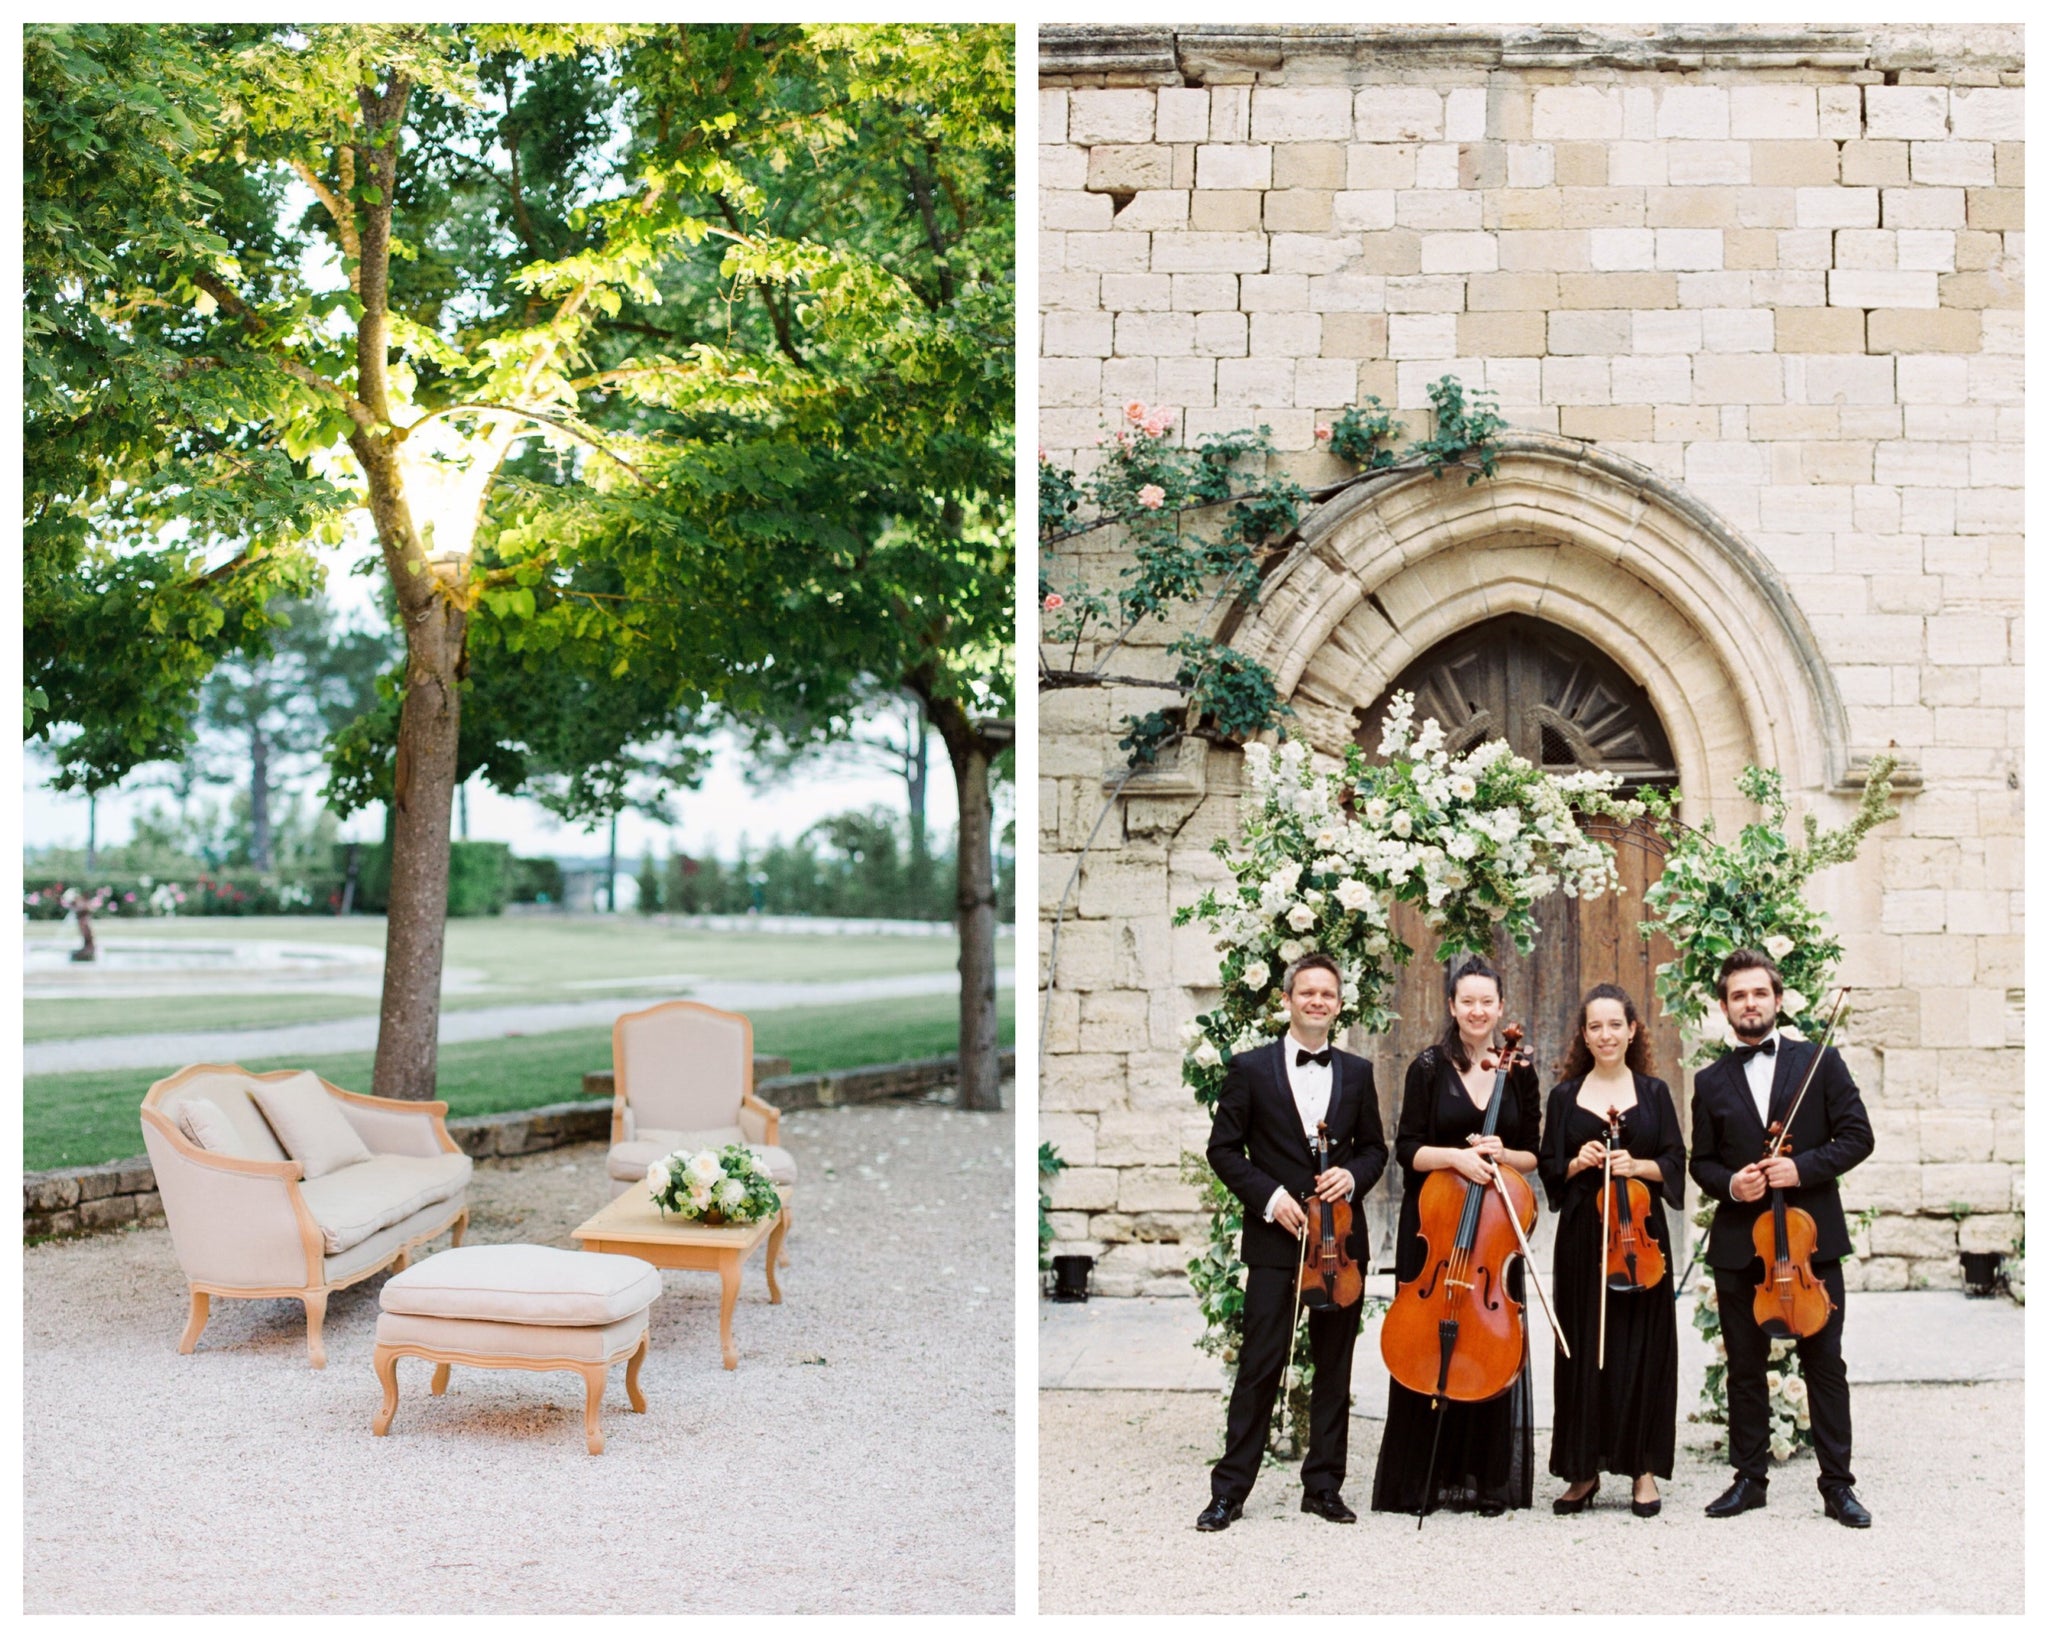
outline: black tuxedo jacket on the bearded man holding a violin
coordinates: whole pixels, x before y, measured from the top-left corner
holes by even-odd
[[[1815,1050],[1810,1040],[1778,1038],[1772,1120],[1786,1118]],[[1765,1190],[1761,1200],[1743,1204],[1729,1194],[1729,1179],[1751,1161],[1761,1161],[1765,1143],[1765,1122],[1757,1120],[1749,1077],[1735,1054],[1702,1069],[1692,1083],[1692,1177],[1720,1202],[1706,1241],[1708,1267],[1735,1271],[1749,1267],[1757,1255],[1751,1224],[1759,1212],[1772,1208],[1772,1192]],[[1874,1147],[1864,1095],[1849,1079],[1849,1067],[1833,1046],[1823,1048],[1821,1069],[1792,1122],[1790,1155],[1800,1186],[1784,1192],[1786,1206],[1798,1206],[1812,1216],[1819,1231],[1815,1257],[1849,1255],[1849,1224],[1841,1216],[1841,1192],[1835,1179],[1868,1159]]]

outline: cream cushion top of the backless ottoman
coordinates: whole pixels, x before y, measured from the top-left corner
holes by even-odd
[[[459,1245],[393,1274],[377,1302],[387,1314],[555,1327],[612,1325],[659,1294],[662,1274],[639,1257],[555,1245]]]

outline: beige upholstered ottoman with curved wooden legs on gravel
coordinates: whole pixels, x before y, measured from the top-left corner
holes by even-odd
[[[639,1390],[647,1357],[647,1306],[662,1276],[639,1257],[559,1251],[549,1245],[463,1245],[393,1274],[379,1296],[377,1380],[383,1409],[373,1429],[391,1431],[397,1362],[432,1360],[432,1392],[449,1386],[449,1366],[479,1370],[573,1370],[584,1378],[584,1439],[604,1450],[598,1407],[604,1374],[627,1362],[627,1398]]]

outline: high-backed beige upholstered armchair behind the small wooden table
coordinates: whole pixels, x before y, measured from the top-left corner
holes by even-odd
[[[797,1186],[782,1112],[754,1095],[754,1024],[700,1001],[662,1001],[612,1024],[612,1151],[623,1194],[676,1149],[745,1143],[778,1192]]]

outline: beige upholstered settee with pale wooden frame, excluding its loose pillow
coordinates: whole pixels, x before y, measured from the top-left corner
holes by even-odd
[[[256,1087],[279,1081],[324,1089],[369,1155],[305,1177],[307,1165],[287,1155],[252,1100]],[[328,1292],[406,1267],[444,1228],[461,1245],[469,1157],[449,1136],[446,1110],[342,1091],[303,1069],[258,1075],[201,1063],[150,1087],[141,1136],[193,1296],[178,1351],[199,1343],[215,1296],[291,1296],[305,1304],[307,1353],[326,1366]],[[195,1124],[211,1143],[195,1140]]]

